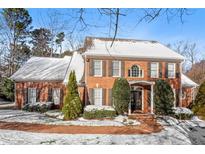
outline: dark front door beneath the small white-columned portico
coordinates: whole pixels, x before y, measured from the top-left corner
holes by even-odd
[[[142,91],[141,90],[135,90],[131,91],[131,110],[142,110]]]

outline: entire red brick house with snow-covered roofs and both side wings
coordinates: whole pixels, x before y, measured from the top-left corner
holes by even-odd
[[[193,100],[198,85],[182,74],[183,56],[156,41],[116,39],[112,47],[111,43],[111,38],[86,37],[82,51],[72,57],[31,58],[11,77],[16,82],[16,104],[21,108],[33,100],[62,106],[71,70],[77,72],[84,105],[112,105],[112,87],[118,77],[126,78],[131,87],[129,113],[154,112],[157,79],[170,83],[174,106],[186,107]],[[56,62],[47,65],[43,62],[47,59]]]

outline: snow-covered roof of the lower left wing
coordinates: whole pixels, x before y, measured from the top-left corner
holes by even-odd
[[[79,82],[84,73],[84,64],[78,61],[82,60],[77,52],[72,57],[64,58],[32,57],[10,78],[15,81],[64,81],[68,78],[67,74],[75,70]]]

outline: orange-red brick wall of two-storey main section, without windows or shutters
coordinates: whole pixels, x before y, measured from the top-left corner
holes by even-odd
[[[108,57],[101,57],[100,60],[104,60],[106,62],[106,73],[105,73],[105,76],[103,77],[94,77],[94,76],[90,76],[90,62],[92,59],[99,59],[99,58],[95,58],[95,57],[86,57],[86,60],[85,60],[85,82],[86,82],[86,86],[87,86],[87,89],[89,91],[90,88],[96,88],[96,87],[99,87],[99,88],[104,88],[106,89],[106,99],[105,99],[105,104],[106,105],[109,105],[108,102],[109,102],[109,98],[108,98],[108,90],[109,89],[112,89],[113,87],[113,84],[114,84],[114,81],[116,79],[116,77],[110,77],[108,76],[108,70],[109,70],[109,60],[112,60]],[[145,80],[145,81],[155,81],[156,79],[153,79],[153,78],[149,78],[149,75],[148,75],[148,65],[149,65],[149,62],[152,62],[150,60],[137,60],[137,59],[119,59],[121,61],[124,62],[124,77],[127,79],[127,80]],[[180,86],[181,86],[181,80],[180,78],[173,78],[173,79],[167,79],[165,78],[165,68],[166,68],[166,62],[165,61],[154,61],[154,62],[160,62],[162,64],[162,79],[165,79],[165,80],[168,80],[168,82],[173,85],[173,88],[174,89],[177,89],[178,90],[178,93],[179,93],[179,89],[180,89]],[[179,61],[170,61],[170,63],[179,63]],[[138,65],[140,66],[141,69],[144,70],[144,77],[143,78],[136,78],[136,77],[128,77],[128,69],[130,69],[133,65]],[[179,65],[180,66],[180,65]],[[176,70],[180,70],[180,68],[177,68]],[[144,91],[144,100],[147,100],[147,90],[145,88],[145,91]],[[87,100],[88,101],[88,100]],[[179,100],[177,100],[179,101]],[[149,110],[149,107],[147,106],[147,104],[145,103],[145,111],[148,111]]]

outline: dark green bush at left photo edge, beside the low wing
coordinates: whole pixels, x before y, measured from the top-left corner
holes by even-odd
[[[14,82],[5,77],[0,83],[1,95],[10,101],[14,101]]]

